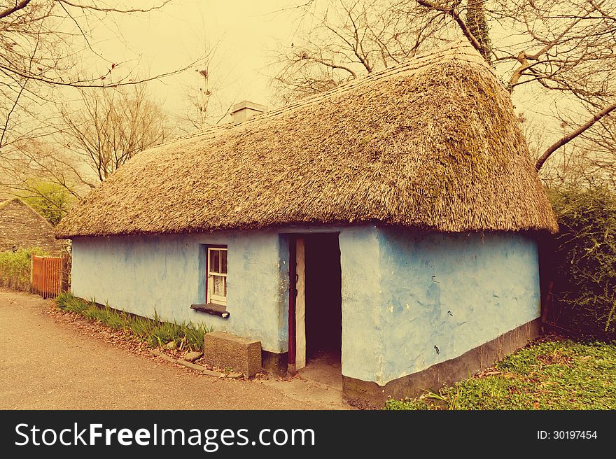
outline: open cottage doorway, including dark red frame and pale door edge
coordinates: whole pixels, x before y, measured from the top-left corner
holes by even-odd
[[[295,236],[289,309],[289,366],[331,386],[342,384],[342,274],[337,233]],[[294,249],[294,250],[293,250]],[[293,289],[292,289],[293,290]],[[293,325],[293,326],[292,326]]]

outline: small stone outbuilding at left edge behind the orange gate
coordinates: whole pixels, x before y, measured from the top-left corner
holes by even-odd
[[[20,198],[0,202],[0,252],[39,247],[59,255],[65,245],[55,238],[51,223]]]

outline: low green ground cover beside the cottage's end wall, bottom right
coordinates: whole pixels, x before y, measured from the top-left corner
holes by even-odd
[[[540,341],[438,393],[385,409],[616,409],[616,344]]]

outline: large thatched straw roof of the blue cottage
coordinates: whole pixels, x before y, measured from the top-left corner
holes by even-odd
[[[557,230],[509,94],[472,48],[145,150],[57,236],[360,222]]]

